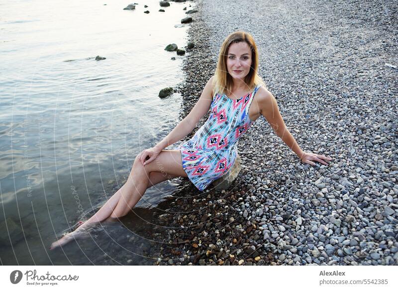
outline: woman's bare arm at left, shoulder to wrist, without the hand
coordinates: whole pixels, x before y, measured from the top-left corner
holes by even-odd
[[[191,112],[167,135],[161,142],[154,147],[163,150],[167,146],[173,145],[194,130],[201,118],[207,114],[213,101],[213,77],[211,77],[205,85],[200,98]]]

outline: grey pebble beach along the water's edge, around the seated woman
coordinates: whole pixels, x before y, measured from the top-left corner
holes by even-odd
[[[302,163],[260,117],[239,141],[242,170],[227,190],[180,178],[154,265],[398,265],[398,3],[189,2],[198,12],[181,119],[223,39],[244,30],[298,145],[332,160]]]

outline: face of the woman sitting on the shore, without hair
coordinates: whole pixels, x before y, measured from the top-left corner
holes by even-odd
[[[227,54],[227,70],[234,79],[244,80],[252,65],[252,52],[245,42],[235,42],[229,45]]]

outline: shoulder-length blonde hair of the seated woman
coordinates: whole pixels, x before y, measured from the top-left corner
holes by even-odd
[[[235,31],[229,34],[221,45],[217,67],[214,74],[214,94],[219,93],[225,94],[227,96],[231,94],[233,80],[227,70],[227,54],[229,46],[232,43],[238,42],[246,42],[252,52],[252,64],[250,66],[250,71],[244,79],[246,85],[250,90],[253,90],[259,84],[262,84],[265,88],[267,88],[263,79],[258,75],[259,57],[253,36],[245,31]]]

